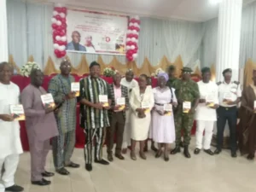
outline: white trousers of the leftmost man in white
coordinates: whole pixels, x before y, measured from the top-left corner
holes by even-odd
[[[5,188],[9,188],[15,184],[15,172],[19,164],[19,154],[10,154],[4,159],[0,159],[0,169],[4,164],[4,172],[0,179],[0,192],[4,192]]]

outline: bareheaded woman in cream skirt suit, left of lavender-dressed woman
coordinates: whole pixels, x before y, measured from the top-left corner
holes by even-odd
[[[139,78],[139,87],[131,90],[131,160],[137,160],[135,154],[136,143],[140,142],[140,157],[146,160],[143,152],[145,140],[148,138],[151,121],[151,109],[154,107],[154,95],[151,88],[147,87],[147,75]]]

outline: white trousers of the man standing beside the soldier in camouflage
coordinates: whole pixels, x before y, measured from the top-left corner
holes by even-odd
[[[206,121],[206,120],[196,121],[196,133],[195,133],[196,148],[201,149],[203,147],[206,150],[211,148],[213,125],[214,125],[214,121]],[[205,131],[205,136],[203,139],[204,131]]]

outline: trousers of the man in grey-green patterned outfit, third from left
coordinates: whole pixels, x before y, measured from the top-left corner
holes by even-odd
[[[70,164],[75,143],[76,130],[62,133],[59,129],[59,136],[52,138],[52,152],[56,170]]]

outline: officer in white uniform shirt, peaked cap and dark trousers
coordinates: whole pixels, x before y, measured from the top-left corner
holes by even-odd
[[[231,81],[232,70],[227,68],[223,72],[224,82],[218,82],[219,108],[217,110],[217,148],[214,154],[219,154],[223,146],[224,128],[226,121],[230,127],[231,156],[236,157],[236,121],[237,104],[241,101],[241,85]]]

